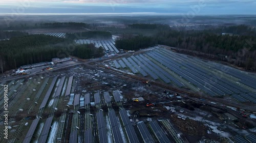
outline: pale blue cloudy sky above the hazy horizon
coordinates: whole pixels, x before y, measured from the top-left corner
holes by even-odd
[[[0,0],[0,13],[256,14],[256,0]]]

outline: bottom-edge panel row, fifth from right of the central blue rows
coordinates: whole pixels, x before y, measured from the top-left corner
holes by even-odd
[[[103,112],[97,112],[97,125],[98,125],[98,133],[99,133],[99,142],[108,142],[108,136],[106,133],[106,125],[103,117]]]

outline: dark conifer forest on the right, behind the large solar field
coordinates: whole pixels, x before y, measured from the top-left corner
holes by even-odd
[[[237,28],[236,28],[237,27]],[[234,35],[222,35],[236,32]],[[204,52],[208,55],[227,55],[229,62],[248,70],[256,70],[256,36],[255,30],[245,25],[218,27],[202,31],[178,31],[168,28],[153,36],[127,36],[116,41],[117,48],[137,50],[152,45],[166,45],[180,49]]]

